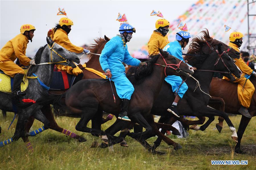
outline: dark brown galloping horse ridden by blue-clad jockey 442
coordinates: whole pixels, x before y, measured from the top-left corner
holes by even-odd
[[[151,132],[153,128],[157,130],[156,127],[152,127],[155,124],[149,125],[144,117],[147,117],[150,114],[153,101],[161,89],[165,75],[188,75],[185,72],[193,73],[191,66],[188,66],[184,62],[181,62],[181,60],[169,55],[169,53],[164,52],[161,49],[159,50],[161,54],[157,54],[151,60],[149,60],[148,66],[144,72],[136,74],[137,76],[142,76],[145,78],[142,83],[134,84],[135,90],[128,106],[128,116],[131,118],[132,122],[122,129],[120,134],[121,137],[114,140],[113,143],[121,142],[128,133],[128,129],[130,129],[135,122],[138,122],[140,125],[146,128],[146,131],[143,132],[143,134]],[[175,65],[179,69],[173,68],[171,65]],[[175,71],[176,69],[177,72]],[[181,72],[178,70],[181,70]],[[114,83],[111,83],[112,86],[114,86]],[[48,95],[37,100],[37,103],[44,105],[54,102],[54,104],[63,105],[60,103],[60,101],[63,97],[65,97],[65,105],[69,110],[71,110],[69,116],[81,115],[81,119],[76,125],[76,130],[91,133],[92,135],[105,135],[100,127],[94,129],[86,127],[86,125],[91,119],[101,115],[102,110],[115,115],[119,114],[121,110],[121,99],[117,98],[116,103],[110,101],[109,99],[113,95],[110,92],[110,88],[111,87],[108,80],[81,80],[63,95]],[[114,94],[116,95],[115,88]]]

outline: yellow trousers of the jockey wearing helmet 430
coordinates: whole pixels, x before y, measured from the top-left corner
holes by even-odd
[[[24,74],[24,70],[12,60],[0,61],[0,69],[11,77],[14,77],[15,74]]]

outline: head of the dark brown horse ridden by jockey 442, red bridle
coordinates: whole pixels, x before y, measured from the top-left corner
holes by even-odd
[[[193,67],[189,66],[182,60],[172,56],[167,51],[159,49],[159,52],[163,58],[161,65],[165,65],[165,76],[167,75],[185,75],[189,77],[189,74],[194,74]]]

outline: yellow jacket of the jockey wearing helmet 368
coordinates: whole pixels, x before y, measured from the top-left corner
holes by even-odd
[[[160,32],[153,31],[148,41],[149,55],[158,54],[160,49],[163,49],[169,43],[167,35],[163,36]]]

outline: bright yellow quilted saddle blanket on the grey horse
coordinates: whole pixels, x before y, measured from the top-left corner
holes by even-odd
[[[21,91],[25,91],[28,87],[28,79],[26,78],[26,74],[28,69],[24,69],[24,77],[23,81],[21,82]],[[0,91],[11,93],[11,79],[9,75],[0,73]]]

